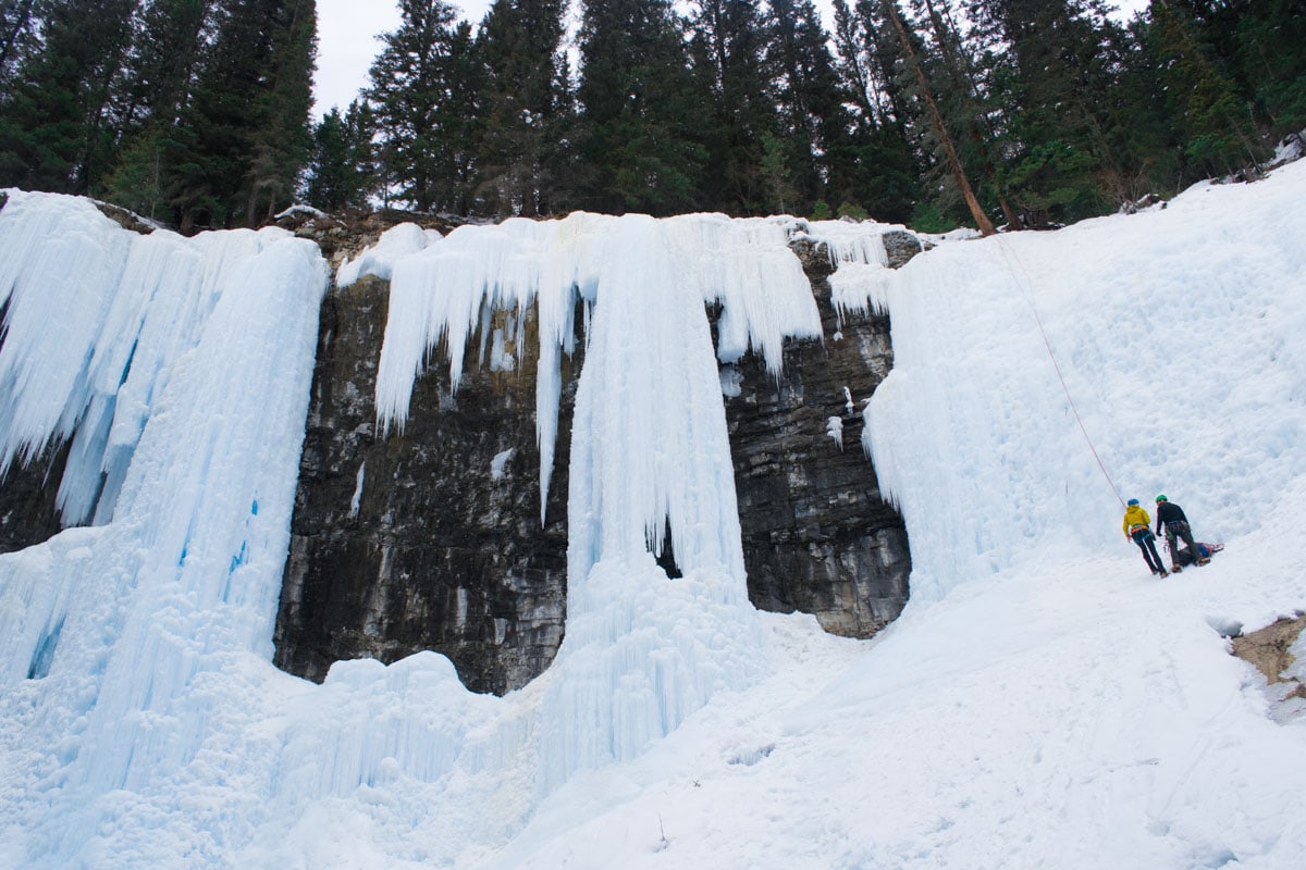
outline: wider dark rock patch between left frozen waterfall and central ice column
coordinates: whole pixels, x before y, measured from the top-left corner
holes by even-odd
[[[469,367],[456,395],[434,367],[402,434],[380,440],[388,301],[389,286],[364,278],[323,303],[276,663],[321,680],[341,659],[431,648],[473,690],[503,693],[541,673],[562,642],[572,367],[541,528],[533,361]]]

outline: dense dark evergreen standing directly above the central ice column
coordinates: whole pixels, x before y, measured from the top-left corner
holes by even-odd
[[[673,214],[701,202],[708,124],[667,0],[588,0],[580,29],[579,205]]]

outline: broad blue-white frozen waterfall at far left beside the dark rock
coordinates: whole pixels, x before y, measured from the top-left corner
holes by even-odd
[[[65,518],[98,494],[103,524],[0,557],[0,865],[95,866],[120,796],[242,740],[225,690],[272,655],[326,270],[276,230],[137,236],[8,193],[4,462],[76,428]]]

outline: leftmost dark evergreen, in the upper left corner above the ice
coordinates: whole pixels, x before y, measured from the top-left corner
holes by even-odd
[[[43,10],[40,50],[22,57],[0,98],[0,185],[86,193],[106,171],[115,138],[110,82],[135,8],[135,0],[61,0]],[[9,51],[31,14],[30,4],[7,10]]]

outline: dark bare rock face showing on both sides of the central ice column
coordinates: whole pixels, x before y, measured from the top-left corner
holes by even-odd
[[[919,252],[904,235],[899,248]],[[888,321],[840,329],[824,249],[797,250],[825,342],[791,342],[778,382],[751,357],[727,373],[739,385],[726,417],[748,591],[760,608],[815,613],[827,630],[870,637],[902,609],[910,571],[902,520],[880,500],[859,443],[861,403],[892,364]],[[276,661],[321,680],[337,660],[436,650],[470,689],[512,690],[538,676],[562,642],[581,360],[564,364],[541,527],[533,360],[511,372],[469,364],[456,395],[432,367],[417,381],[404,433],[377,438],[372,397],[387,296],[385,283],[366,279],[323,307]],[[525,347],[534,346],[528,334]],[[831,417],[842,427],[842,449],[828,434]],[[670,558],[663,565],[674,573]]]

